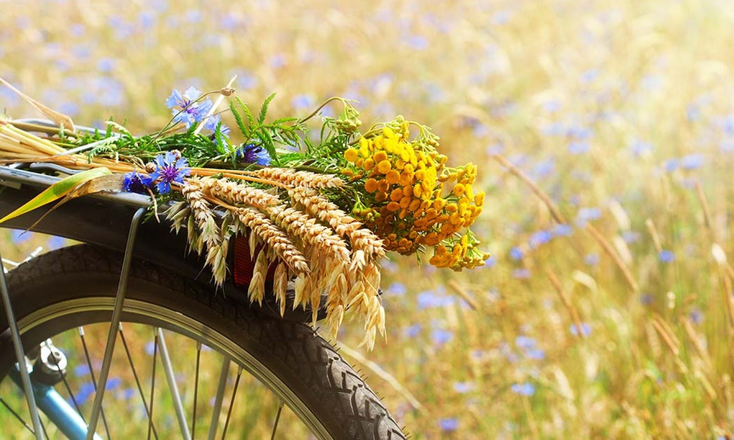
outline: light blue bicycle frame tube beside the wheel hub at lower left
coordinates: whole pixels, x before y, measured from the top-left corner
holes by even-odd
[[[17,368],[10,370],[10,378],[18,387],[23,389],[21,373],[18,372]],[[65,436],[70,440],[84,440],[87,438],[87,424],[84,423],[84,419],[81,419],[79,413],[74,411],[74,408],[56,392],[53,386],[40,384],[34,381],[33,376],[31,376],[31,387],[38,408]],[[102,437],[95,433],[94,440],[102,440]]]

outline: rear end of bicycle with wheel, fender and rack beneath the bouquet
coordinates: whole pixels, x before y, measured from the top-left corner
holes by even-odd
[[[49,126],[40,120],[26,122]],[[0,166],[3,186],[0,215],[12,212],[59,180],[40,174],[48,171],[73,173],[43,163]],[[4,313],[0,317],[0,353],[4,353],[0,356],[0,381],[12,380],[26,392],[32,423],[16,416],[37,439],[44,438],[47,430],[38,417],[35,401],[51,423],[70,439],[101,438],[95,432],[98,426],[104,427],[108,438],[114,434],[109,432],[107,422],[111,414],[103,411],[103,399],[109,386],[113,353],[120,359],[120,345],[134,376],[136,398],[139,397],[138,403],[145,408],[142,412],[147,418],[138,437],[169,438],[173,431],[160,424],[156,426],[155,422],[159,358],[181,438],[194,438],[197,427],[198,431],[203,430],[201,410],[197,417],[202,398],[198,393],[200,357],[210,347],[222,354],[222,363],[208,426],[209,439],[219,435],[225,389],[232,370],[230,364],[236,366],[237,373],[222,438],[228,432],[242,372],[250,373],[275,396],[269,400],[274,400],[277,407],[266,411],[267,416],[275,413],[271,438],[276,436],[284,405],[310,433],[321,439],[405,438],[363,378],[332,345],[305,324],[311,318],[309,310],[290,311],[281,318],[275,302],[264,301],[261,306],[250,304],[241,288],[247,286],[247,275],[252,272],[244,240],[237,241],[230,249],[228,258],[233,276],[225,283],[223,292],[215,293],[208,282],[209,274],[203,270],[203,261],[193,253],[186,253],[183,235],[170,233],[164,222],[142,222],[148,205],[150,198],[140,194],[100,194],[75,199],[51,212],[44,208],[0,224],[0,227],[30,228],[83,243],[18,265],[7,274],[7,283],[5,275],[0,273],[4,299]],[[35,224],[47,212],[48,216]],[[95,376],[88,349],[90,341],[84,330],[96,323],[105,323],[104,326],[109,323],[98,376]],[[150,389],[144,389],[148,384],[140,380],[141,367],[135,366],[135,356],[131,354],[134,351],[124,330],[138,325],[152,327],[155,334]],[[60,333],[66,335],[59,337]],[[71,339],[68,334],[76,334],[73,339],[81,345],[95,384],[89,419],[84,417],[68,384],[69,356],[50,339],[67,341]],[[187,417],[183,402],[186,399],[178,390],[169,351],[173,345],[167,344],[167,338],[176,340],[176,350],[183,350],[179,340],[187,340],[189,350],[195,347],[191,417]],[[32,350],[24,353],[23,347]],[[62,392],[66,389],[72,402],[60,397],[56,387],[62,387]],[[0,403],[15,411],[4,400],[0,399]]]

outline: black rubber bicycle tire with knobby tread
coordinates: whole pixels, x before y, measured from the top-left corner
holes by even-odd
[[[92,291],[114,296],[121,266],[120,253],[88,244],[29,260],[7,276],[16,318]],[[168,307],[225,334],[280,378],[334,439],[406,438],[363,378],[310,326],[266,316],[215,294],[205,283],[142,260],[131,265],[126,298]],[[4,314],[0,329],[9,331]],[[23,336],[24,342],[42,338],[32,332]],[[0,350],[2,358],[12,357],[7,343]]]

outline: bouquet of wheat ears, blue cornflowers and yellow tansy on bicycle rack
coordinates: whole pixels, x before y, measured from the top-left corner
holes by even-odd
[[[87,170],[80,173],[87,177],[70,176],[79,188],[104,179],[98,188],[149,194],[156,216],[175,232],[186,230],[190,249],[206,256],[217,284],[228,271],[230,238],[247,236],[258,252],[251,301],[263,300],[275,267],[281,313],[295,280],[294,307],[310,306],[316,320],[323,305],[333,334],[345,312],[355,312],[369,347],[385,332],[378,296],[385,252],[432,252],[429,263],[454,270],[487,259],[468,229],[484,204],[484,193],[472,188],[476,166],[449,166],[426,126],[398,116],[360,132],[359,113],[342,98],[304,118],[268,120],[273,95],[255,114],[233,92],[174,90],[166,100],[172,119],[145,136],[115,122],[104,132],[76,132],[68,120],[40,137],[31,133],[37,127],[0,116],[0,159]],[[225,99],[237,141],[219,112]],[[330,102],[341,106],[338,117],[321,114]],[[310,136],[315,117],[319,135]]]

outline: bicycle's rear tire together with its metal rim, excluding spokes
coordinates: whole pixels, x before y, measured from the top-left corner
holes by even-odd
[[[121,265],[121,254],[80,245],[10,271],[23,345],[33,347],[69,329],[109,322]],[[360,375],[305,324],[266,316],[215,295],[206,284],[139,260],[131,267],[123,321],[174,331],[222,353],[261,381],[319,438],[404,439]],[[7,322],[0,320],[0,329],[7,336]],[[9,337],[3,338],[0,353],[4,378],[14,357]]]

